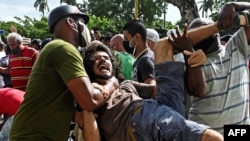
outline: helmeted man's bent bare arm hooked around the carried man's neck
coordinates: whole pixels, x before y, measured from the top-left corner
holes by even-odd
[[[68,82],[67,86],[80,107],[86,111],[94,111],[107,100],[107,97],[99,89],[92,86],[88,77],[75,78]],[[109,97],[118,87],[118,81],[113,77],[103,84],[103,86]]]

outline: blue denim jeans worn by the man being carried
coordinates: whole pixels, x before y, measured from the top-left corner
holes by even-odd
[[[137,141],[199,141],[208,127],[184,118],[184,64],[167,62],[156,65],[158,96],[145,100],[139,112],[130,120]],[[183,83],[183,84],[182,84]],[[170,97],[176,98],[169,100]],[[184,98],[184,97],[183,97]],[[182,104],[181,104],[182,103]]]

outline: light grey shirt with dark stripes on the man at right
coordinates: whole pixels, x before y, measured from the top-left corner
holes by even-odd
[[[206,95],[191,99],[189,119],[211,126],[223,134],[227,124],[250,124],[249,46],[244,29],[226,46],[207,55],[202,67]]]

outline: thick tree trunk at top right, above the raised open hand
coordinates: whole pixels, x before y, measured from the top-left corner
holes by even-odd
[[[167,2],[180,10],[182,21],[187,24],[200,17],[195,0],[167,0]]]

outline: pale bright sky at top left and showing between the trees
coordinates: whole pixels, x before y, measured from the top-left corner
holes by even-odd
[[[35,0],[0,0],[0,21],[15,21],[14,17],[28,16],[40,19],[42,14],[34,7]],[[60,5],[60,0],[48,0],[50,10]],[[168,5],[166,19],[172,23],[181,19],[178,8]],[[171,13],[171,14],[170,14]],[[45,13],[47,16],[48,13]]]

